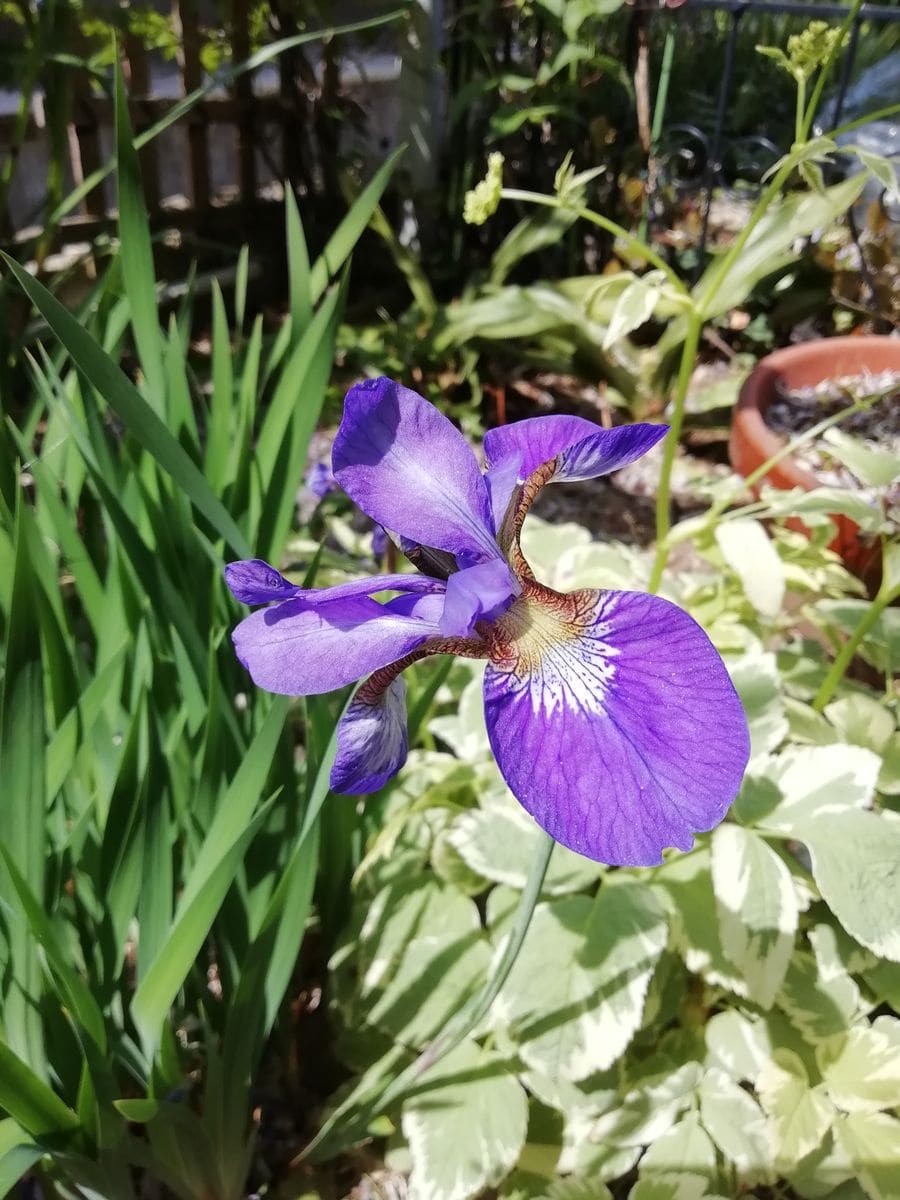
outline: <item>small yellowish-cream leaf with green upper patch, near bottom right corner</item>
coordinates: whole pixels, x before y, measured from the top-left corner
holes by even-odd
[[[756,1091],[769,1118],[775,1165],[792,1165],[811,1154],[832,1127],[835,1112],[822,1091],[810,1087],[799,1055],[775,1050],[760,1072]]]

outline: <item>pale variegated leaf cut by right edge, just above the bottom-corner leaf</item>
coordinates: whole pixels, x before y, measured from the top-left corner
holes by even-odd
[[[900,1020],[876,1016],[816,1050],[826,1090],[845,1112],[900,1105]]]

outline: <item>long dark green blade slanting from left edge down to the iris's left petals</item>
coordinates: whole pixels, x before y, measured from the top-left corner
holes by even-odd
[[[78,370],[121,418],[128,432],[156,460],[162,470],[170,475],[230,550],[239,558],[250,558],[251,548],[234,520],[137,388],[47,288],[7,254],[0,251],[0,256],[66,347]]]

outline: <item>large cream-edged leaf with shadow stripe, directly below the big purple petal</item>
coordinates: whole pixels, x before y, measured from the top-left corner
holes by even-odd
[[[604,1070],[637,1032],[667,938],[662,906],[641,883],[541,904],[496,1019],[523,1061],[551,1079]]]

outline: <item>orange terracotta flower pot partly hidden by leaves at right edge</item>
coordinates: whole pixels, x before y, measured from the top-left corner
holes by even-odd
[[[756,364],[740,389],[728,439],[728,457],[736,472],[749,475],[778,454],[784,437],[767,426],[766,409],[776,396],[779,385],[788,390],[809,388],[823,379],[841,379],[900,371],[900,338],[894,337],[829,337],[800,346],[775,350]],[[793,456],[788,455],[769,470],[764,481],[785,490],[802,487],[812,491],[820,480]],[[758,488],[754,490],[755,492]],[[833,517],[838,533],[830,544],[845,565],[871,583],[878,574],[880,547],[860,538],[859,526],[848,517]],[[791,529],[809,530],[796,517],[787,521]]]

